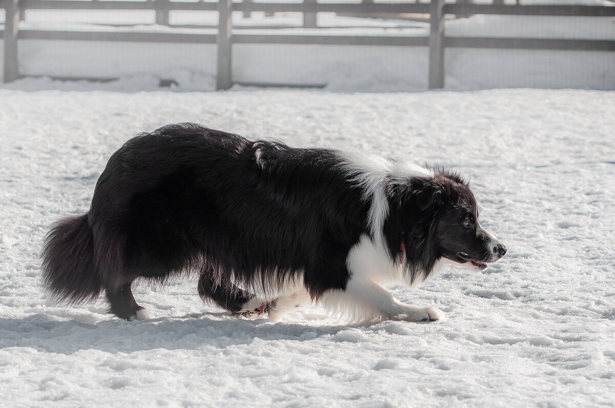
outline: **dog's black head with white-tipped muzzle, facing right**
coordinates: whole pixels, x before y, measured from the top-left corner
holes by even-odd
[[[434,211],[432,239],[438,255],[483,270],[506,254],[506,246],[480,226],[474,194],[464,179],[440,170],[423,187],[419,207]]]

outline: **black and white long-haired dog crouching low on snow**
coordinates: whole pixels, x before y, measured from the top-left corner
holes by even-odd
[[[68,303],[104,290],[126,320],[149,317],[134,280],[185,272],[236,316],[277,321],[319,301],[353,320],[438,320],[437,308],[403,304],[383,285],[497,261],[506,247],[477,217],[450,171],[167,125],[111,156],[90,211],[47,235],[42,274]]]

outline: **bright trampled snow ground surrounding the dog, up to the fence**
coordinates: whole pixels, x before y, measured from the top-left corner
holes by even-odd
[[[31,83],[0,89],[0,405],[613,406],[615,93],[15,89]],[[181,121],[453,168],[509,252],[392,289],[441,308],[436,323],[242,321],[194,278],[139,284],[145,321],[45,299],[50,224],[88,210],[124,141]]]

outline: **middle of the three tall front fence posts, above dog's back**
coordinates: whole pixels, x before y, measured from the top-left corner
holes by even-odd
[[[218,73],[216,88],[228,89],[232,86],[232,0],[218,0]]]

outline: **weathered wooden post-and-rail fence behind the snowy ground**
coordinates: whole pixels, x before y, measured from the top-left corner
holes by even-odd
[[[615,51],[615,41],[584,39],[544,39],[544,38],[501,38],[501,37],[446,37],[444,20],[446,14],[474,15],[541,15],[571,17],[615,17],[615,7],[608,6],[522,6],[506,5],[501,1],[494,4],[469,4],[458,2],[446,4],[445,0],[431,0],[430,3],[375,3],[363,0],[360,4],[318,3],[304,0],[303,3],[271,2],[177,2],[169,0],[136,1],[97,1],[97,0],[0,0],[0,8],[6,9],[4,37],[4,81],[18,79],[18,39],[54,39],[79,41],[138,41],[138,42],[192,42],[217,44],[218,67],[217,88],[228,89],[233,84],[231,69],[231,49],[233,44],[324,44],[324,45],[393,45],[397,47],[429,47],[429,88],[444,86],[444,50],[446,47],[488,48],[488,49],[543,49],[543,50],[597,50]],[[168,24],[170,10],[208,10],[218,12],[218,33],[122,33],[109,31],[47,31],[19,30],[18,22],[23,10],[156,10],[157,23]],[[429,15],[431,31],[429,37],[411,36],[360,36],[360,35],[320,35],[301,34],[241,34],[234,31],[231,21],[232,12],[250,14],[253,11],[266,13],[300,12],[304,15],[305,26],[316,26],[315,15],[319,12],[340,14],[391,15],[424,14]],[[261,28],[262,29],[262,28]]]

